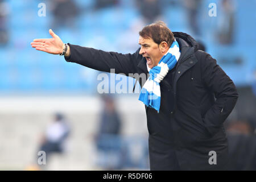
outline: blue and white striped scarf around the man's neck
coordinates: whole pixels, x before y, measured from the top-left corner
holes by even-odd
[[[172,43],[166,54],[159,61],[158,65],[153,68],[148,68],[150,76],[143,85],[139,100],[146,106],[152,107],[155,110],[160,110],[161,92],[160,81],[167,75],[168,71],[175,67],[177,60],[180,57],[179,44],[176,40]]]

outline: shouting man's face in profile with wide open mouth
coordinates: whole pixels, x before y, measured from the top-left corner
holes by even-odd
[[[158,65],[164,55],[160,52],[159,45],[152,38],[144,39],[142,36],[139,36],[139,44],[141,45],[139,54],[146,57],[148,67],[153,68]]]

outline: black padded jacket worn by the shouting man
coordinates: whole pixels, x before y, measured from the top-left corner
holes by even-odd
[[[174,69],[160,82],[160,111],[146,107],[151,170],[222,169],[228,159],[223,122],[236,104],[233,81],[208,53],[198,51],[196,41],[174,32],[181,49]],[[146,59],[133,54],[104,52],[69,44],[67,61],[98,71],[148,73]],[[141,86],[144,82],[139,80]],[[217,164],[209,164],[210,151]]]

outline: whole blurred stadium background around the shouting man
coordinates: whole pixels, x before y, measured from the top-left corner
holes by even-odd
[[[236,84],[225,122],[230,169],[255,170],[255,7],[255,0],[0,0],[0,169],[149,169],[138,92],[99,94],[101,72],[30,43],[51,38],[52,28],[64,43],[135,52],[142,27],[163,20],[193,36]]]

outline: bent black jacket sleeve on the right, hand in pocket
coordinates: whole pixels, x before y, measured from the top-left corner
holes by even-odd
[[[223,126],[222,123],[236,105],[238,93],[233,81],[209,54],[201,60],[201,74],[207,89],[214,93],[216,98],[203,118],[205,127],[210,134],[214,135]]]

